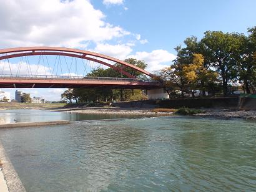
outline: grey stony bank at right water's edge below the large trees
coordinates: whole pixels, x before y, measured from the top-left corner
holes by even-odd
[[[255,119],[256,110],[230,110],[230,109],[212,109],[204,110],[204,113],[197,113],[200,117],[217,117],[217,118],[244,118]]]

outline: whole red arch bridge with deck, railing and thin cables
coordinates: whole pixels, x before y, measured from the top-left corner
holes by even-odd
[[[93,69],[107,67],[119,72],[122,78],[90,75]],[[0,49],[0,88],[157,89],[161,87],[160,82],[136,79],[132,72],[127,71],[136,71],[147,77],[154,77],[150,72],[135,65],[87,50],[62,47]]]

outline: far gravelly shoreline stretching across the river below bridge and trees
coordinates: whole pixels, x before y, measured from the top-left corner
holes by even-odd
[[[63,103],[52,104],[32,104],[32,103],[0,103],[0,112],[4,110],[49,110],[52,112],[69,112],[95,115],[134,115],[145,117],[174,116],[175,109],[150,107],[109,107],[107,105],[97,107],[87,107],[86,105],[66,106]],[[177,109],[176,109],[177,110]],[[213,118],[240,118],[256,120],[256,110],[240,110],[233,108],[200,108],[202,113],[190,115],[194,117],[213,117]],[[183,116],[183,115],[182,115]]]

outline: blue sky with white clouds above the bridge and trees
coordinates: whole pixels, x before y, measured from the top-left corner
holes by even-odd
[[[186,37],[200,39],[205,31],[247,34],[248,27],[256,26],[255,0],[0,0],[0,4],[0,49],[91,50],[122,60],[143,59],[150,72],[171,65],[174,48]],[[37,59],[30,62],[36,65]],[[12,69],[17,70],[19,62],[11,60]],[[46,70],[51,69],[52,65]],[[2,90],[14,98],[15,89]],[[46,100],[60,100],[64,91],[19,90]]]

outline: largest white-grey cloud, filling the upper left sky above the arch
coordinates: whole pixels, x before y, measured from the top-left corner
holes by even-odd
[[[89,0],[1,1],[0,17],[1,47],[85,48],[89,41],[106,41],[130,34],[104,21],[106,16]]]

